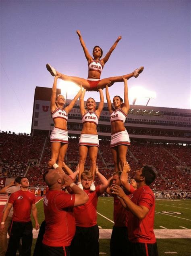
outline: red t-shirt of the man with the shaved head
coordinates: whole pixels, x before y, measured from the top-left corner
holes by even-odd
[[[69,246],[75,235],[73,206],[75,195],[48,190],[44,197],[46,221],[43,243],[47,246]]]

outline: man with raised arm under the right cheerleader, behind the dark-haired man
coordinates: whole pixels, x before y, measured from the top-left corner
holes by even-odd
[[[128,182],[128,172],[130,171],[128,163],[124,163],[122,172],[114,172],[112,177],[108,180],[112,185],[118,185],[125,190],[126,195],[132,194],[137,189],[136,181],[132,181],[131,184]],[[110,187],[107,188],[106,192],[112,195]],[[129,239],[127,233],[128,227],[128,211],[124,201],[114,195],[114,210],[113,219],[114,226],[112,229],[112,235],[110,239],[110,256],[116,255],[128,255],[129,254]]]

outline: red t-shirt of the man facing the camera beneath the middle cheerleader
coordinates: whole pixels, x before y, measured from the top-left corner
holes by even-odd
[[[89,200],[82,206],[74,207],[74,216],[76,226],[78,227],[93,227],[97,224],[97,204],[100,195],[100,186],[96,187],[96,191],[84,190],[89,196]]]

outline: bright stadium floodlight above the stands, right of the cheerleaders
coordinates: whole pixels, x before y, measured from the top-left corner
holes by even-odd
[[[129,90],[129,95],[133,98],[133,105],[135,105],[135,102],[138,98],[149,98],[149,100],[156,98],[156,92],[146,90],[141,86],[132,87]],[[149,100],[147,101],[146,106],[148,105]]]

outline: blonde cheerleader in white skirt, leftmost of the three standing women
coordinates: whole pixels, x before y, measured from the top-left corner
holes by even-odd
[[[62,164],[64,161],[64,156],[66,150],[68,148],[68,130],[67,130],[67,120],[68,120],[68,113],[71,111],[77,99],[81,96],[82,93],[82,86],[71,101],[71,103],[64,108],[65,99],[64,96],[58,94],[56,96],[56,86],[57,86],[57,79],[60,78],[59,76],[55,76],[54,84],[52,87],[52,96],[50,100],[50,109],[52,119],[54,121],[54,129],[50,135],[50,142],[51,142],[51,162],[56,163],[62,168]],[[58,160],[58,161],[57,161]]]

